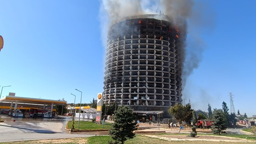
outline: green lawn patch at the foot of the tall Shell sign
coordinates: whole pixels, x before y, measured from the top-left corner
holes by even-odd
[[[89,121],[80,121],[79,122],[79,129],[77,128],[78,121],[74,121],[74,129],[75,130],[109,130],[112,128],[111,123],[105,122],[104,128],[102,124],[95,124],[95,122],[89,122]],[[72,121],[68,122],[68,129],[71,129],[72,127]]]

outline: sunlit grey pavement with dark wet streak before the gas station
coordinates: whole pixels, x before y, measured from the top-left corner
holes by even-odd
[[[64,129],[67,120],[10,118],[0,115],[6,120],[0,123],[0,142],[23,140],[44,140],[56,138],[80,138],[95,136],[97,133],[70,133]],[[13,120],[16,120],[15,122]],[[98,134],[100,135],[100,134]]]

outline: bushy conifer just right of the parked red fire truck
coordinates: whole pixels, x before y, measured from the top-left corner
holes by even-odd
[[[214,134],[226,134],[224,130],[226,130],[226,121],[225,115],[222,109],[214,109],[212,113],[212,133]]]

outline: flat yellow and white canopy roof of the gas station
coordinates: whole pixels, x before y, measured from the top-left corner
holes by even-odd
[[[67,104],[63,100],[46,100],[40,98],[24,98],[17,96],[6,96],[5,98],[0,99],[0,102],[13,102],[13,103],[25,103],[25,104],[44,104],[44,105],[56,105],[56,104]]]

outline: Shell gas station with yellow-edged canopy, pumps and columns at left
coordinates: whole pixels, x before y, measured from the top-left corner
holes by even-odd
[[[31,110],[34,110],[36,114],[32,116],[52,117],[56,114],[56,106],[54,105],[66,103],[63,100],[6,96],[0,99],[0,110],[10,110],[9,115],[13,117],[24,117],[29,115]]]

